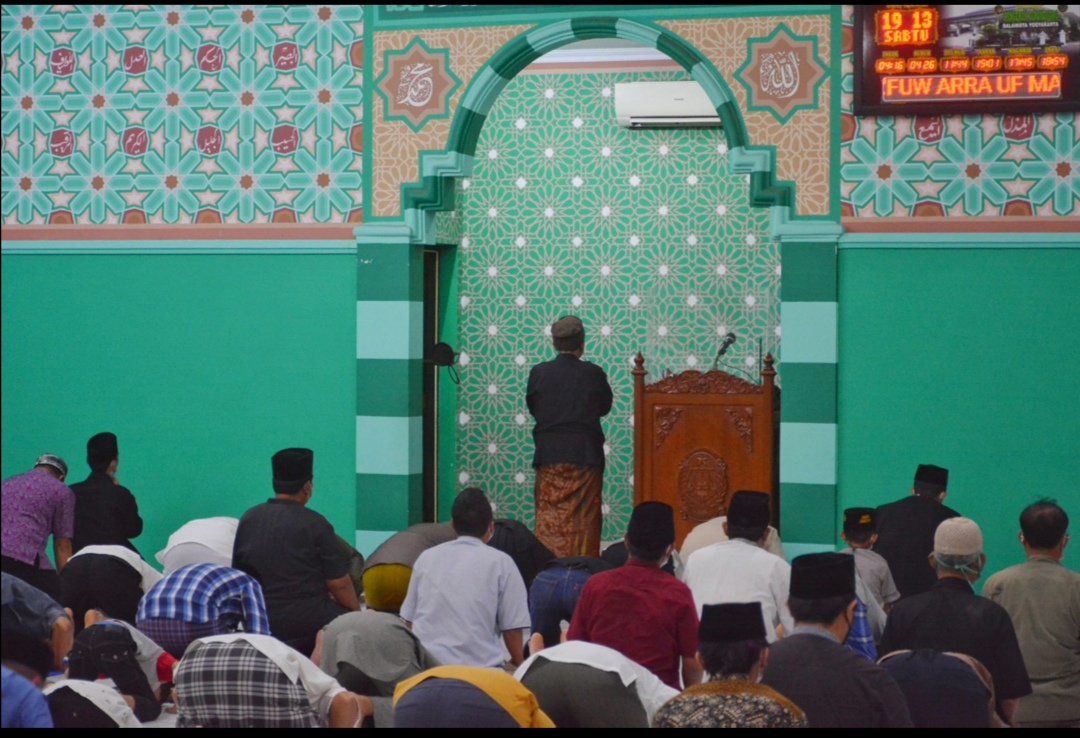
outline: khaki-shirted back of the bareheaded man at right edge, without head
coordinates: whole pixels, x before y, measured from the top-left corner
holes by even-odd
[[[987,579],[983,596],[1012,618],[1035,689],[1015,721],[1080,721],[1080,574],[1031,556]]]

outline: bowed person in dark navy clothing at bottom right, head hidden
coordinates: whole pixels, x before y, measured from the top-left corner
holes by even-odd
[[[900,685],[917,728],[1008,727],[994,709],[990,673],[970,656],[919,648],[878,663]]]

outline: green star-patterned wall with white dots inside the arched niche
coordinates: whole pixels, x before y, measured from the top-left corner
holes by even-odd
[[[459,244],[459,482],[487,489],[499,514],[532,521],[529,368],[553,358],[545,331],[563,314],[586,326],[586,359],[615,390],[605,539],[633,505],[633,386],[638,351],[663,368],[707,368],[729,331],[727,360],[756,373],[757,339],[778,352],[780,252],[768,213],[728,172],[718,130],[627,131],[613,86],[650,73],[521,75],[481,133],[458,210],[441,242]]]

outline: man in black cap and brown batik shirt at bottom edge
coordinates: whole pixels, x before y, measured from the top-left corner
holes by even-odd
[[[772,687],[758,684],[769,660],[761,603],[705,605],[698,661],[708,681],[688,687],[652,720],[658,728],[799,728],[806,714]]]

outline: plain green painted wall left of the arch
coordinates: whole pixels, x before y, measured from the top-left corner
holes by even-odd
[[[351,540],[355,284],[350,253],[4,255],[3,477],[49,452],[82,480],[86,439],[116,432],[153,561],[185,521],[272,496],[270,456],[306,445],[311,507]]]

